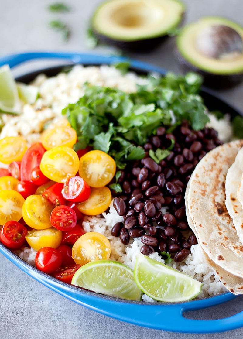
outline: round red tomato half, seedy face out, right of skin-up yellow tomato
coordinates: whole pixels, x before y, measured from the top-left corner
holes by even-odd
[[[77,224],[77,216],[73,208],[60,205],[50,214],[50,223],[61,231],[70,231]]]

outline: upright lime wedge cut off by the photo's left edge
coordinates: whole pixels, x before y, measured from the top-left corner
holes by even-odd
[[[0,67],[0,111],[21,113],[17,85],[8,65]]]

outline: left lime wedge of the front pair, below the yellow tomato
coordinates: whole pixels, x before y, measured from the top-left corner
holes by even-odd
[[[141,300],[133,271],[112,260],[91,261],[75,272],[72,284],[110,297]]]

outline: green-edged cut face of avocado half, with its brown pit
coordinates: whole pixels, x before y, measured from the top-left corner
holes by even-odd
[[[220,17],[204,17],[185,26],[177,49],[188,64],[217,74],[243,73],[243,27]]]

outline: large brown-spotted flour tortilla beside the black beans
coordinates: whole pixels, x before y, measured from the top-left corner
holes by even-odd
[[[225,177],[243,140],[218,146],[196,166],[188,188],[188,212],[198,242],[223,270],[243,277],[243,245],[225,206]]]

